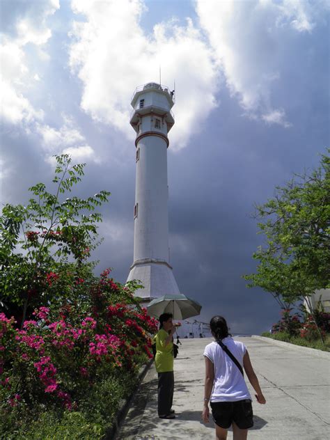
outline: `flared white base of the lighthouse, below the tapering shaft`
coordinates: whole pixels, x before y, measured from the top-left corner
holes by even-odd
[[[139,280],[142,289],[135,291],[136,297],[151,301],[162,297],[164,294],[178,294],[180,290],[175,281],[172,267],[162,260],[137,260],[134,261],[127,281]]]

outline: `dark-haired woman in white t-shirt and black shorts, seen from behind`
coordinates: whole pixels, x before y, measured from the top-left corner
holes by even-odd
[[[253,371],[249,353],[243,343],[233,340],[228,332],[226,320],[214,316],[210,321],[215,341],[205,347],[205,393],[203,422],[208,423],[210,402],[216,426],[216,440],[226,440],[228,428],[233,425],[233,440],[246,440],[248,429],[253,426],[251,395],[243,377],[243,369],[256,391],[259,403],[266,400],[262,395],[256,373]],[[222,348],[229,349],[238,361]]]

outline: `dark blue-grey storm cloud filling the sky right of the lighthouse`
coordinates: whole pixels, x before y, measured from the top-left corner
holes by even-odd
[[[313,69],[305,74],[311,79]],[[306,102],[313,100],[303,84],[299,92]],[[313,116],[309,105],[301,107],[292,127],[284,129],[237,118],[237,104],[222,93],[221,107],[205,125],[207,136],[170,153],[171,263],[182,292],[203,304],[202,320],[221,313],[236,333],[260,333],[278,320],[271,295],[247,289],[242,279],[255,271],[251,257],[262,244],[251,214],[254,203],[274,196],[276,185],[319,162],[317,152],[324,152],[329,139],[324,101]]]

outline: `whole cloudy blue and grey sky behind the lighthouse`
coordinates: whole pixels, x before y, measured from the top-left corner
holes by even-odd
[[[327,0],[1,0],[0,203],[51,183],[53,155],[86,162],[77,195],[111,191],[97,272],[133,259],[136,86],[175,84],[169,133],[171,265],[180,291],[233,333],[279,308],[247,289],[262,244],[255,203],[329,146]]]

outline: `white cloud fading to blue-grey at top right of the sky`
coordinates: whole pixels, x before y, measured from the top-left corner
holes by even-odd
[[[285,110],[274,108],[272,93],[281,81],[281,65],[290,63],[297,33],[311,33],[322,19],[326,4],[297,0],[197,1],[201,26],[221,63],[230,92],[237,95],[246,116],[290,126]]]

